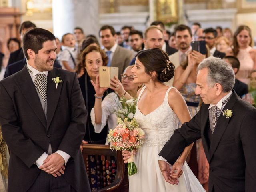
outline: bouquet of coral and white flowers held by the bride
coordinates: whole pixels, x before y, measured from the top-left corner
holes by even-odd
[[[135,119],[128,121],[128,118],[122,120],[118,118],[118,125],[114,130],[110,129],[108,134],[108,142],[110,143],[110,149],[116,151],[133,151],[136,148],[140,148],[143,144],[145,133],[139,128],[139,124]],[[131,176],[138,172],[138,169],[134,163],[133,155],[130,156],[128,161],[128,175]]]

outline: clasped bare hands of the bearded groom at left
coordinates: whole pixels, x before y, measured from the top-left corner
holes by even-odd
[[[54,177],[57,177],[61,176],[61,174],[64,174],[64,164],[64,158],[58,153],[53,153],[48,155],[48,157],[44,160],[44,164],[42,164],[39,169],[45,171],[48,174],[52,174]]]

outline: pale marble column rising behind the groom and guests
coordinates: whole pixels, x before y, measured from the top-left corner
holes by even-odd
[[[98,7],[98,0],[52,0],[54,35],[61,38],[65,33],[73,33],[73,29],[79,26],[86,35],[98,37]]]

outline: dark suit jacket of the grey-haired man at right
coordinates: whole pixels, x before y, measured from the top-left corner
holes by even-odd
[[[159,155],[174,164],[184,148],[202,136],[210,164],[209,192],[255,192],[256,109],[233,90],[224,107],[233,114],[230,118],[220,115],[211,134],[208,107],[202,104],[192,120],[175,130]]]

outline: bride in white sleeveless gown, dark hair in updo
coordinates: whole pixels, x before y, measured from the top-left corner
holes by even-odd
[[[131,71],[134,74],[134,83],[145,84],[138,91],[135,118],[145,132],[146,141],[135,154],[134,162],[138,173],[129,176],[129,191],[205,192],[185,162],[192,145],[185,148],[177,160],[184,164],[183,174],[178,180],[173,179],[178,185],[172,185],[164,179],[163,174],[168,177],[170,168],[162,170],[162,174],[158,166],[158,160],[162,160],[158,154],[178,128],[179,120],[183,123],[191,119],[178,90],[163,84],[174,75],[174,65],[169,61],[168,55],[158,48],[141,51],[137,54]],[[130,152],[124,151],[123,156],[127,162]],[[182,170],[178,170],[180,171]]]

